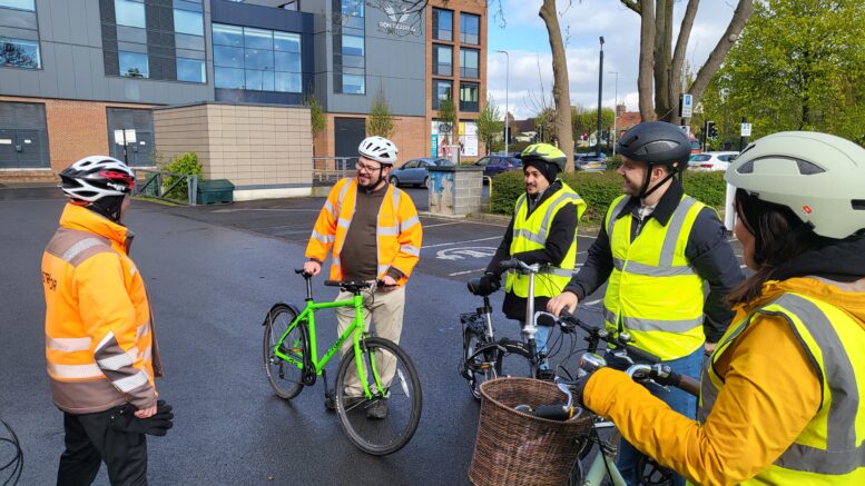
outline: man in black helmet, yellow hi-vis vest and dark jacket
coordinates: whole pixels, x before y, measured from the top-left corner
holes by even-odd
[[[699,377],[704,353],[714,349],[733,319],[725,298],[744,279],[739,264],[717,212],[685,195],[675,178],[690,156],[679,127],[637,125],[619,139],[617,150],[625,195],[610,205],[586,264],[548,310],[574,311],[609,280],[607,328],[629,333],[636,347],[660,357],[674,371]],[[612,357],[611,363],[616,365]],[[680,414],[695,416],[696,398],[685,391],[652,393]],[[618,466],[629,485],[639,482],[639,456],[622,444]]]

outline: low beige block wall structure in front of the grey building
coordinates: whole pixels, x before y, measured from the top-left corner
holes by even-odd
[[[160,155],[195,151],[205,178],[235,185],[235,200],[311,194],[306,108],[220,103],[158,108],[154,128]]]

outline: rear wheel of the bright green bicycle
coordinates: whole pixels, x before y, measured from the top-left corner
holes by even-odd
[[[276,356],[275,348],[297,314],[288,306],[274,306],[267,314],[264,327],[264,370],[274,393],[279,398],[292,399],[303,390],[303,368]],[[298,363],[307,353],[306,327],[295,326],[283,339],[281,353]]]

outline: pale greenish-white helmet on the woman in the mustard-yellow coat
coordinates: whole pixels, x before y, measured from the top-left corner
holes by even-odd
[[[817,235],[844,239],[865,228],[865,149],[839,137],[783,131],[750,143],[727,182],[783,205]]]

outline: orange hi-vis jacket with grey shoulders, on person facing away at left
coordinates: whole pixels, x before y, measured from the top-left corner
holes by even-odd
[[[159,354],[126,227],[68,204],[42,256],[46,357],[55,404],[70,414],[156,405]]]

